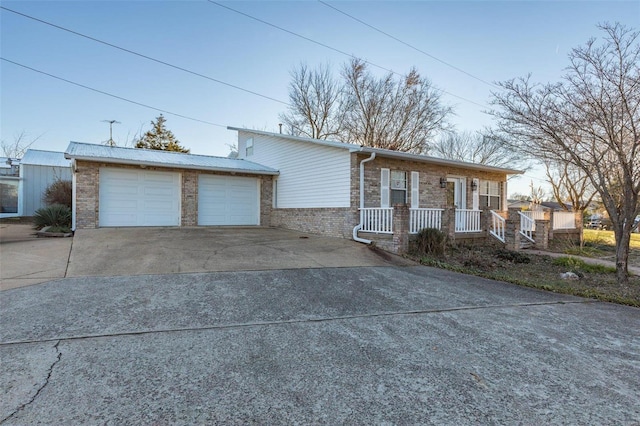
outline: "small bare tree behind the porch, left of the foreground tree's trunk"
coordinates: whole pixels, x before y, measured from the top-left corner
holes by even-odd
[[[564,210],[583,212],[589,207],[596,191],[584,170],[568,161],[546,161],[545,171],[553,197]]]

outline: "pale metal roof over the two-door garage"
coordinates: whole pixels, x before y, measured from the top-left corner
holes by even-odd
[[[181,152],[158,151],[153,149],[123,148],[119,146],[96,145],[81,142],[69,143],[64,156],[76,160],[116,164],[238,172],[258,175],[278,174],[278,171],[271,167],[247,160],[183,154]]]

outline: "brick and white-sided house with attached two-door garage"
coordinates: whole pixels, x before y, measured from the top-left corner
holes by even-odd
[[[275,226],[394,252],[398,235],[406,247],[427,227],[506,241],[507,179],[519,170],[229,129],[237,158],[71,142],[74,229]]]

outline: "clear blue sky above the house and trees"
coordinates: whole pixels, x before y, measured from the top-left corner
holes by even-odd
[[[358,23],[320,2],[229,1],[223,5],[381,67],[415,66],[454,106],[459,130],[491,125],[491,86]],[[599,36],[596,25],[640,28],[640,1],[329,1],[329,4],[428,54],[488,81],[531,73],[557,81],[567,53]],[[3,1],[3,7],[65,27],[264,96],[287,101],[289,72],[301,62],[349,58],[207,1]],[[226,156],[235,132],[277,131],[286,105],[114,49],[0,10],[1,56],[155,108],[195,154]],[[384,73],[375,67],[372,71]],[[32,148],[64,151],[68,142],[103,143],[114,124],[118,144],[133,139],[159,111],[0,62],[0,136],[41,136]],[[465,98],[466,100],[458,97]],[[509,192],[527,192],[533,170]],[[535,180],[535,185],[542,184]]]

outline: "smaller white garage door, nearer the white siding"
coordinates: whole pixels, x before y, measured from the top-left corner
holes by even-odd
[[[200,175],[198,225],[259,225],[256,178]]]

